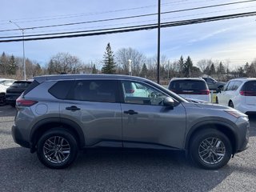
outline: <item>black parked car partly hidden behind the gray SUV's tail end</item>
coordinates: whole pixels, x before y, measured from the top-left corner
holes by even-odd
[[[24,90],[26,90],[31,82],[32,80],[15,81],[10,87],[6,89],[6,103],[14,107],[16,99],[22,94]]]

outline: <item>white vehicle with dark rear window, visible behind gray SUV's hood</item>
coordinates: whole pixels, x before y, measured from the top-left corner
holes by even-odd
[[[210,102],[210,90],[202,78],[173,78],[168,89],[183,98]]]

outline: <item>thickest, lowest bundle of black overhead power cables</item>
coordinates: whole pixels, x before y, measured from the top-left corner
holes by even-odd
[[[231,18],[250,17],[255,15],[256,15],[256,11],[241,13],[241,14],[227,14],[222,16],[208,17],[208,18],[196,18],[196,19],[182,20],[177,22],[163,22],[161,23],[161,27],[165,28],[165,27],[173,27],[173,26],[185,26],[185,25],[198,24],[203,22],[221,21],[221,20],[231,19]],[[126,27],[120,27],[120,28],[87,30],[87,31],[76,31],[76,32],[73,31],[69,33],[58,33],[58,34],[37,34],[32,36],[34,37],[44,36],[44,37],[27,38],[28,36],[25,36],[24,41],[45,40],[45,39],[54,39],[54,38],[78,38],[78,37],[96,36],[96,35],[102,35],[102,34],[117,34],[117,33],[126,33],[126,32],[138,31],[138,30],[153,30],[157,27],[158,25],[154,23],[154,24],[149,24],[145,26],[126,26]],[[66,35],[62,35],[62,34],[66,34]],[[50,37],[46,37],[46,36],[50,36]],[[20,42],[20,41],[23,41],[23,39],[17,38],[17,39],[0,40],[0,42]]]

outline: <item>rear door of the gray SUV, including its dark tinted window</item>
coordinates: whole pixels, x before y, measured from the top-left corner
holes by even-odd
[[[65,81],[62,86],[63,90],[69,85]],[[118,93],[118,82],[114,80],[76,80],[60,102],[60,117],[82,127],[86,146],[122,147]]]

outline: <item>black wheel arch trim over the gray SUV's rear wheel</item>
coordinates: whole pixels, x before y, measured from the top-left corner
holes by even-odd
[[[81,149],[85,146],[85,137],[82,132],[82,128],[78,126],[76,122],[71,121],[70,119],[66,118],[46,118],[39,122],[37,122],[30,134],[30,152],[34,153],[36,150],[36,145],[40,136],[46,131],[54,129],[54,128],[62,128],[73,134],[74,137],[78,141],[78,146]]]

